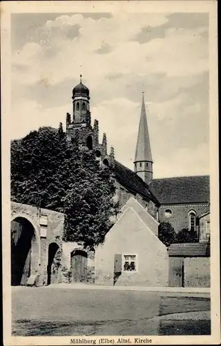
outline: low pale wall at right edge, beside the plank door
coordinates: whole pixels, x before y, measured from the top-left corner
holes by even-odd
[[[210,258],[184,259],[184,287],[210,287]]]

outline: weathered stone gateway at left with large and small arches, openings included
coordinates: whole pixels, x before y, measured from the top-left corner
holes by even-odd
[[[12,286],[58,283],[64,214],[12,201],[10,226]]]

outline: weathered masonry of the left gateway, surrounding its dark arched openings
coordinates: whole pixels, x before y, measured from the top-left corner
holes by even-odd
[[[31,266],[32,271],[28,284],[42,286],[48,282],[48,247],[57,244],[58,250],[52,262],[51,282],[60,280],[60,261],[62,251],[62,237],[64,232],[64,214],[48,209],[39,209],[27,204],[11,202],[12,219],[23,218],[30,221],[35,230],[35,241],[32,242]],[[42,221],[44,220],[44,221]]]

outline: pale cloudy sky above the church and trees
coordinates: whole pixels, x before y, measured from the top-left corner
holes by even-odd
[[[58,127],[72,89],[133,170],[142,92],[154,178],[209,174],[206,13],[41,13],[11,17],[11,138]]]

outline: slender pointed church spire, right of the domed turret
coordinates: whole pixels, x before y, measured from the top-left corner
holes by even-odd
[[[151,183],[153,179],[153,158],[151,154],[151,144],[146,121],[146,109],[144,104],[144,93],[142,95],[142,107],[140,115],[140,125],[137,136],[137,147],[134,160],[134,171],[145,181]]]

